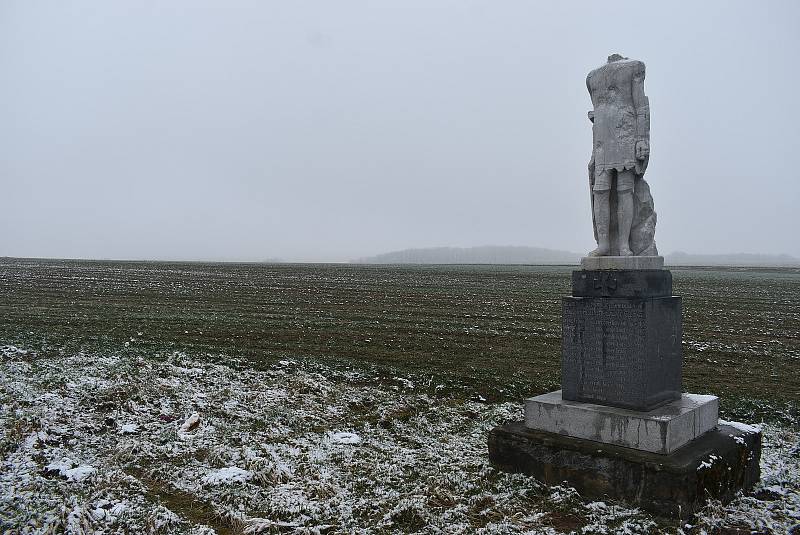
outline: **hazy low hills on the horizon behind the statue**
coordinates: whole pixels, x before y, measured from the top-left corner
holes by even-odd
[[[353,260],[355,264],[567,264],[577,265],[583,254],[543,247],[484,245],[479,247],[427,247],[403,249]],[[664,255],[669,266],[797,267],[800,258],[787,254],[692,254],[676,251]]]

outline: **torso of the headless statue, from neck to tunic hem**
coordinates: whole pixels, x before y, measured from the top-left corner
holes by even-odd
[[[644,76],[644,63],[614,61],[586,77],[594,105],[593,156],[595,172],[636,168],[636,108],[633,79]]]

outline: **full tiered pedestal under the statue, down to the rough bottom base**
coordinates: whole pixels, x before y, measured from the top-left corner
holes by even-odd
[[[582,266],[563,299],[562,389],[490,432],[494,466],[661,515],[752,487],[761,433],[718,425],[714,396],[682,394],[681,300],[663,259]]]

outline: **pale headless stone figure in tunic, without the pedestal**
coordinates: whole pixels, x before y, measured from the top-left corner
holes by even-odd
[[[643,176],[650,158],[644,63],[608,57],[589,73],[594,110],[589,184],[597,249],[590,256],[657,256],[656,213]]]

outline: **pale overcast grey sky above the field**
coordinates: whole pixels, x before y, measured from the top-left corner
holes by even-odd
[[[0,255],[588,251],[613,52],[661,252],[800,256],[800,2],[641,0],[0,1]]]

